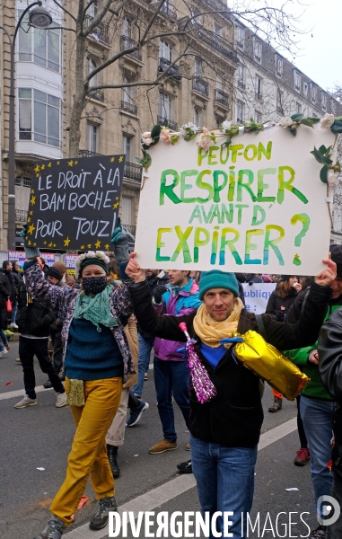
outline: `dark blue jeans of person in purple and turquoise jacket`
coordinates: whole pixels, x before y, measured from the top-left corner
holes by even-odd
[[[187,361],[162,361],[154,358],[154,385],[157,393],[159,417],[165,440],[174,443],[177,433],[174,428],[172,394],[180,407],[189,429],[189,381],[190,372]]]

